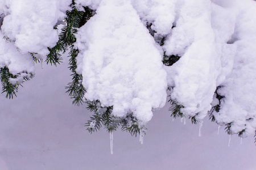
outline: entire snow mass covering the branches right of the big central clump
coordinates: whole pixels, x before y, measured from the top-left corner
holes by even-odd
[[[232,122],[232,133],[253,134],[255,121],[255,1],[182,1],[175,27],[164,44],[167,55],[181,58],[167,68],[172,99],[183,113],[203,119],[214,112],[218,124]],[[213,97],[214,96],[214,97]]]

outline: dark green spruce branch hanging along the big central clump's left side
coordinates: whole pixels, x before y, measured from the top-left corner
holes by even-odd
[[[82,75],[76,72],[77,63],[76,57],[79,54],[79,49],[74,48],[74,43],[76,42],[77,28],[82,27],[88,20],[93,16],[93,10],[89,7],[84,7],[85,11],[78,11],[76,9],[75,1],[72,2],[72,11],[67,11],[67,17],[64,18],[66,25],[61,29],[59,35],[59,52],[65,52],[66,49],[69,49],[69,70],[72,74],[72,82],[68,83],[67,93],[73,99],[73,104],[80,105],[84,103],[83,97],[86,92],[86,89],[82,85]],[[55,56],[58,56],[58,53]]]

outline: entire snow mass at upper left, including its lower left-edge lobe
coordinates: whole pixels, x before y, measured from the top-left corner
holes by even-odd
[[[18,74],[10,83],[20,84],[27,73],[34,73],[30,53],[37,53],[35,56],[41,61],[46,58],[47,48],[58,41],[53,27],[64,18],[70,3],[69,0],[0,1],[0,67],[7,66],[10,73]]]

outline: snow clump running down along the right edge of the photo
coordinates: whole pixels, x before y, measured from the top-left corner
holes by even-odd
[[[216,114],[219,122],[232,122],[231,130],[238,133],[245,129],[244,136],[253,134],[256,128],[256,5],[253,1],[237,2],[238,14],[230,43],[236,45],[233,67],[221,84],[221,111]],[[243,137],[244,137],[243,136]]]

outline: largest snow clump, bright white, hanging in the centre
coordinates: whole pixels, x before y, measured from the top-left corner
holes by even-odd
[[[86,100],[113,105],[115,116],[133,112],[145,124],[166,103],[166,71],[158,45],[129,1],[101,1],[79,29]],[[152,81],[154,80],[154,81]]]

